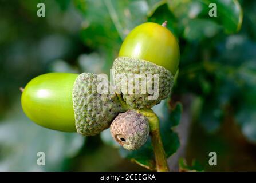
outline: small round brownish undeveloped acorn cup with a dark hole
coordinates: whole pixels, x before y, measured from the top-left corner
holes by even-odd
[[[145,144],[149,135],[149,124],[146,117],[128,110],[120,113],[111,123],[111,135],[127,150],[139,149]]]

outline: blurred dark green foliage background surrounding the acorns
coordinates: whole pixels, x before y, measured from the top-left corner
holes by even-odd
[[[37,17],[40,2],[46,17]],[[211,2],[218,17],[208,16]],[[255,171],[255,12],[256,1],[245,0],[0,0],[0,170],[147,170],[128,160],[142,157],[120,149],[109,130],[82,137],[34,124],[19,87],[49,72],[109,74],[133,27],[167,20],[179,40],[179,77],[172,114],[163,113],[167,101],[154,110],[176,120],[164,138],[171,170]],[[40,151],[45,166],[37,165]],[[212,151],[217,166],[208,165]]]

